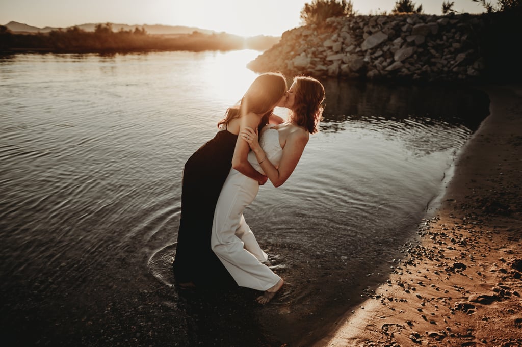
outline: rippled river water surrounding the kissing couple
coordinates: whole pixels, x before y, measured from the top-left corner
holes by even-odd
[[[183,164],[257,54],[0,56],[4,341],[305,346],[385,279],[488,115],[484,93],[323,80],[319,133],[245,212],[281,293],[258,307],[250,291],[206,301],[172,286]]]

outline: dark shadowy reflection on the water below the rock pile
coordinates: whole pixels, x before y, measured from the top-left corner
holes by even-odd
[[[419,124],[462,125],[474,131],[489,114],[488,95],[481,90],[455,84],[401,85],[393,82],[363,82],[328,79],[324,129],[345,129],[342,122],[376,123],[405,119]]]

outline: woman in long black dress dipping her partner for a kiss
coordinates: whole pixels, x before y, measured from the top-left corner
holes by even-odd
[[[267,177],[248,162],[248,143],[238,138],[244,127],[281,123],[272,114],[284,106],[287,81],[278,73],[259,75],[243,95],[239,105],[230,107],[218,123],[215,137],[187,160],[183,170],[181,220],[177,234],[173,270],[181,288],[234,284],[210,246],[212,221],[221,187],[231,167],[264,184]]]

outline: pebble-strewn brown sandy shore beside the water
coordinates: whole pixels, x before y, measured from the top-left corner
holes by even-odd
[[[314,347],[522,346],[522,87],[481,89],[491,113],[416,240]]]

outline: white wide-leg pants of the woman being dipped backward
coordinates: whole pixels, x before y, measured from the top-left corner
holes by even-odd
[[[258,191],[257,181],[230,170],[216,204],[211,245],[239,286],[266,291],[281,278],[262,264],[268,256],[243,217]]]

